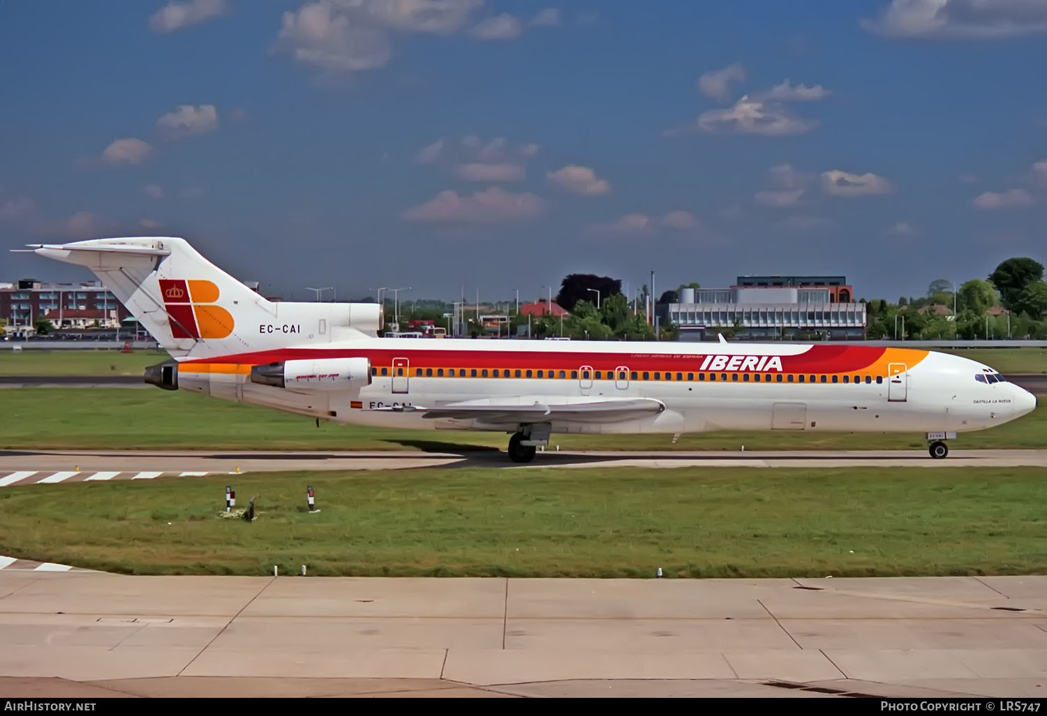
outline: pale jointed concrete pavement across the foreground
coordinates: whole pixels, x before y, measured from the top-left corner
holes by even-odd
[[[656,565],[651,565],[652,572]],[[0,696],[1043,697],[1047,576],[0,569]]]

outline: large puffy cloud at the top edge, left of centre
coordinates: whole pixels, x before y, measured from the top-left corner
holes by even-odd
[[[392,4],[392,3],[391,3]],[[360,71],[384,66],[393,54],[380,28],[350,22],[326,0],[284,13],[271,51],[331,71]]]

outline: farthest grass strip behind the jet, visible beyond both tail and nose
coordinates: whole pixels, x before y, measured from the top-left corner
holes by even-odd
[[[948,350],[981,361],[1003,374],[1047,374],[1047,349]],[[141,376],[147,365],[169,358],[159,351],[0,351],[0,376]]]

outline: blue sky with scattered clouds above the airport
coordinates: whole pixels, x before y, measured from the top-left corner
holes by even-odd
[[[0,281],[181,236],[297,299],[921,295],[1047,263],[1045,66],[1032,0],[0,0]]]

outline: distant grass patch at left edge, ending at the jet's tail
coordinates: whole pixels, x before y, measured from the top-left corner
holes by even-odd
[[[121,343],[122,345],[122,343]],[[0,351],[0,376],[138,376],[147,365],[171,356],[166,351]]]

